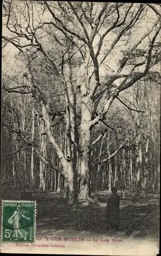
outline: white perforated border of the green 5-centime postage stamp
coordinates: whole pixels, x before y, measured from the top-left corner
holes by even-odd
[[[37,201],[31,201],[31,200],[1,200],[2,203],[2,212],[1,212],[1,243],[15,243],[15,242],[4,242],[3,240],[3,209],[4,209],[4,202],[11,202],[11,203],[35,203],[35,223],[34,223],[34,242],[33,244],[36,242],[36,214],[37,214]],[[19,242],[20,243],[20,242]],[[25,243],[25,242],[22,242]],[[27,244],[27,243],[26,243]]]

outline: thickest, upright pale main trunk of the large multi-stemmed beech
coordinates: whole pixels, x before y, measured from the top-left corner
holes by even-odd
[[[75,200],[88,200],[90,197],[90,140],[91,140],[91,110],[92,100],[86,96],[87,88],[82,86],[82,118],[79,129],[79,150],[77,154],[77,175],[74,191]]]

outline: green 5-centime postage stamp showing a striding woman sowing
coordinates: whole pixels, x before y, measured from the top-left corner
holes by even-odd
[[[35,242],[36,202],[2,200],[2,242]]]

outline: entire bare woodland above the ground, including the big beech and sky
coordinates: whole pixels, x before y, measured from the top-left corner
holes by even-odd
[[[2,191],[158,193],[160,16],[157,4],[3,2]]]

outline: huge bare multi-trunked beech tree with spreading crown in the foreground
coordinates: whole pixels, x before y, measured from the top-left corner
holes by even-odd
[[[90,155],[93,146],[110,129],[110,107],[137,81],[159,76],[159,7],[47,1],[6,1],[3,7],[4,47],[12,44],[26,67],[25,86],[10,88],[9,93],[32,95],[32,101],[41,109],[43,136],[51,143],[61,164],[56,166],[49,161],[46,153],[43,155],[39,150],[34,136],[25,136],[19,124],[4,125],[30,144],[41,161],[64,177],[69,202],[87,200]],[[57,113],[51,106],[47,84],[42,84],[41,76],[37,79],[37,59],[55,75],[53,90],[63,89],[65,152],[52,132],[51,112]],[[95,127],[103,125],[104,129],[93,140]],[[128,139],[122,141],[106,161],[115,156]]]

